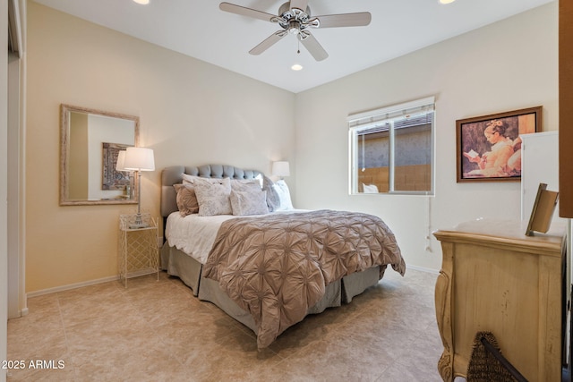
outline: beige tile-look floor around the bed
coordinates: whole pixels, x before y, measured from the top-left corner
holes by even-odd
[[[8,321],[8,360],[26,365],[8,381],[440,381],[436,277],[389,269],[263,352],[247,327],[165,273],[38,296]],[[49,369],[30,368],[37,360]]]

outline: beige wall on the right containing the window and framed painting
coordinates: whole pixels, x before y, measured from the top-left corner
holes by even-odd
[[[296,189],[298,207],[381,216],[406,264],[431,269],[441,264],[436,229],[477,217],[519,219],[520,183],[456,183],[456,120],[541,105],[543,130],[557,130],[557,5],[297,94],[296,183],[316,185]],[[429,96],[436,98],[435,197],[349,196],[346,116]]]

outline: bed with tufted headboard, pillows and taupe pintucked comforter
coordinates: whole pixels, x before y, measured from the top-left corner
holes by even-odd
[[[229,183],[235,215],[217,213],[216,204],[215,212],[209,210],[206,198],[215,198]],[[257,192],[259,209],[240,203],[247,185]],[[188,205],[178,199],[184,190],[196,192],[197,204],[203,203],[199,212],[184,211]],[[394,234],[380,218],[290,206],[281,210],[277,203],[284,195],[277,190],[261,172],[235,166],[169,166],[161,174],[162,269],[201,301],[250,327],[259,349],[306,315],[349,303],[378,284],[388,266],[401,275],[406,271]]]

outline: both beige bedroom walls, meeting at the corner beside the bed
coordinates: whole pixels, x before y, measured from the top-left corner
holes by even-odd
[[[29,2],[27,292],[116,275],[116,206],[59,207],[61,103],[141,117],[142,208],[158,215],[164,166],[291,162],[298,208],[381,216],[406,263],[439,269],[432,231],[519,218],[519,183],[456,183],[456,120],[543,105],[557,130],[557,2],[294,95]],[[346,116],[436,97],[436,195],[348,195]],[[309,129],[308,126],[312,126]],[[296,187],[296,185],[300,185]],[[303,186],[304,185],[304,186]]]

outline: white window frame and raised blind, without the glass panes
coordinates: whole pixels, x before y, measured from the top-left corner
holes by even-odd
[[[394,184],[395,174],[395,127],[394,121],[403,118],[405,115],[415,115],[432,112],[432,126],[430,132],[430,172],[431,182],[429,191],[396,191]],[[434,97],[421,98],[414,101],[385,106],[379,109],[348,115],[346,118],[348,125],[348,193],[350,195],[376,195],[376,193],[367,193],[358,191],[358,156],[359,142],[358,132],[368,128],[380,125],[381,123],[390,122],[389,127],[389,191],[378,192],[378,195],[434,195],[435,190],[435,126],[436,110]]]

